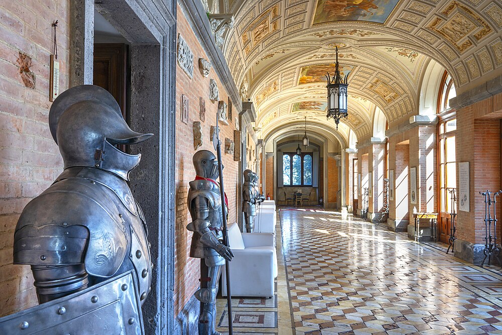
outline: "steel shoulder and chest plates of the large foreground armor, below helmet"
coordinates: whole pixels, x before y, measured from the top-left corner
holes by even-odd
[[[89,167],[63,171],[28,203],[14,234],[14,264],[81,263],[100,278],[134,270],[146,298],[151,262],[141,208],[126,181]]]

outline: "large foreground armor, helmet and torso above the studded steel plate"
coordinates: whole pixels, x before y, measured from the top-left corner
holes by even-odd
[[[64,171],[24,208],[14,234],[14,264],[31,265],[41,304],[129,271],[134,290],[127,292],[143,303],[152,265],[145,217],[127,183],[141,155],[115,146],[152,134],[133,132],[113,96],[93,85],[63,92],[49,123]]]

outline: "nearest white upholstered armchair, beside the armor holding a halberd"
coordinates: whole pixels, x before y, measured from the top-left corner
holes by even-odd
[[[277,277],[274,235],[241,233],[236,223],[228,226],[228,241],[234,258],[228,263],[232,296],[272,297]],[[226,275],[221,274],[221,294],[227,296]]]

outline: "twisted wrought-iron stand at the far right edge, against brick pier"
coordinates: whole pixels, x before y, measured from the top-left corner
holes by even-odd
[[[484,196],[484,259],[481,262],[481,267],[484,265],[486,257],[488,257],[488,265],[491,263],[491,256],[498,256],[500,249],[497,246],[497,214],[496,214],[496,203],[497,196],[500,195],[502,191],[497,191],[493,193],[493,198],[491,197],[490,191],[479,192],[479,194]],[[491,216],[491,207],[493,206],[493,217]],[[493,235],[492,235],[493,229]]]

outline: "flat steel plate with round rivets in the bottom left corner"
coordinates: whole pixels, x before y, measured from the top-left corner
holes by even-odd
[[[135,286],[131,271],[120,274],[83,291],[0,318],[0,334],[144,334]]]

